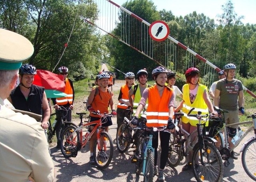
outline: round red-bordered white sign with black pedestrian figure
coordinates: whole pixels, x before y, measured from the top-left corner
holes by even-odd
[[[170,29],[166,22],[155,21],[150,25],[148,32],[153,40],[163,41],[168,37]]]

